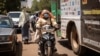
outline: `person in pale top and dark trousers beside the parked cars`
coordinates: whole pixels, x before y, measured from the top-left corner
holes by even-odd
[[[19,27],[21,27],[22,41],[28,43],[29,39],[29,14],[26,12],[26,7],[23,7],[19,19]]]

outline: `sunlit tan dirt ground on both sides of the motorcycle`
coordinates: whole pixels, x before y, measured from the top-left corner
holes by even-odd
[[[32,36],[33,35],[34,34],[32,34]],[[18,41],[22,41],[20,34],[18,34]],[[64,46],[66,44],[64,43],[66,42],[66,40],[62,41],[59,38],[57,38],[56,41],[57,41],[56,47],[58,51],[55,54],[55,56],[75,56],[75,54],[70,50],[68,46],[67,46],[68,49],[66,48],[66,46]],[[38,45],[36,43],[33,43],[31,41],[29,44],[22,44],[21,47],[22,47],[22,56],[38,56]]]

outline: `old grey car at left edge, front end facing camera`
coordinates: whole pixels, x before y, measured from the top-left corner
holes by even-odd
[[[17,34],[11,18],[0,15],[0,52],[16,53]]]

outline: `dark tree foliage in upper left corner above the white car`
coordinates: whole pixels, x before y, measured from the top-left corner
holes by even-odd
[[[0,14],[20,10],[20,0],[0,0]]]

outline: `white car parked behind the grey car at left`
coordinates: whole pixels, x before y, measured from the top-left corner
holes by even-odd
[[[21,14],[21,11],[10,11],[8,12],[8,16],[10,16],[14,22],[14,26],[17,28],[17,29],[20,29],[18,27],[18,23],[19,23],[19,16]]]

